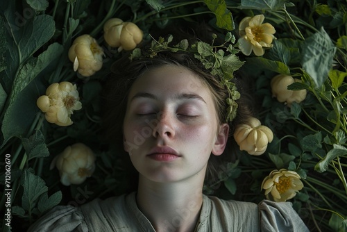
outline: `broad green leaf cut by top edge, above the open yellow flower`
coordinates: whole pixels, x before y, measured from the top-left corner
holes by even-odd
[[[242,8],[255,10],[280,10],[285,6],[286,0],[242,0]]]

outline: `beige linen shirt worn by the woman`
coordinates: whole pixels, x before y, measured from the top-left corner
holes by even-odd
[[[174,231],[175,223],[178,221],[176,218],[173,222],[167,222],[170,231]],[[155,229],[137,208],[136,192],[133,192],[105,200],[95,199],[78,208],[56,206],[28,230],[34,231],[155,232]],[[276,203],[265,200],[260,204],[254,204],[203,195],[203,206],[195,231],[306,232],[308,229],[289,202]]]

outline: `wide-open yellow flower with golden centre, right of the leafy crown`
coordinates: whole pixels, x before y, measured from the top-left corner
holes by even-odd
[[[245,17],[239,24],[239,49],[246,56],[253,50],[256,56],[264,55],[264,47],[272,47],[272,40],[276,39],[273,35],[275,28],[264,21],[264,15]]]

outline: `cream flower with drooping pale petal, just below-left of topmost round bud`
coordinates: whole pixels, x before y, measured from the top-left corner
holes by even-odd
[[[74,71],[82,76],[92,76],[103,67],[103,49],[90,35],[78,36],[69,49],[69,59]]]

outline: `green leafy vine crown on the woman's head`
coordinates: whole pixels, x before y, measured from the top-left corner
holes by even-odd
[[[188,40],[184,39],[176,45],[171,45],[173,35],[169,35],[167,40],[162,37],[155,40],[152,37],[153,41],[149,47],[134,49],[130,53],[129,59],[133,61],[141,58],[154,58],[163,51],[192,53],[194,58],[199,60],[205,69],[208,69],[218,79],[221,87],[228,90],[226,122],[231,122],[236,117],[238,107],[236,100],[240,97],[232,78],[234,78],[234,72],[242,67],[244,61],[239,60],[239,57],[236,56],[239,50],[235,49],[237,44],[235,44],[235,36],[232,33],[226,33],[224,42],[220,45],[214,45],[216,38],[217,35],[212,34],[211,44],[202,41],[189,44]]]

